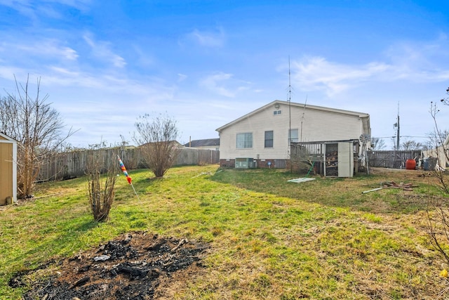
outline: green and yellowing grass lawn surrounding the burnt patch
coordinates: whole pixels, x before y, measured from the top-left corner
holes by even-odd
[[[26,287],[8,287],[21,270],[142,230],[210,243],[203,273],[173,299],[449,299],[426,213],[429,199],[448,197],[422,171],[303,183],[276,169],[128,171],[140,200],[121,176],[105,223],[89,212],[86,178],[41,183],[34,200],[0,207],[0,299],[21,299]],[[417,188],[362,193],[385,181]]]

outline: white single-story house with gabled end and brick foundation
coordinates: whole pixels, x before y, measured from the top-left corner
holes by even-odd
[[[220,166],[262,168],[288,167],[291,146],[302,143],[307,143],[307,149],[320,148],[307,150],[314,154],[313,159],[322,159],[319,163],[326,159],[319,155],[324,145],[333,152],[340,146],[346,148],[342,151],[349,152],[349,157],[344,160],[357,163],[363,148],[368,148],[371,133],[366,113],[282,100],[274,100],[216,131],[220,134]]]

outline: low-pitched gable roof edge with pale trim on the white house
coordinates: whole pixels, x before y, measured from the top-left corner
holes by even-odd
[[[327,111],[327,112],[336,112],[336,113],[340,113],[340,114],[344,114],[344,115],[354,115],[354,116],[360,117],[362,119],[363,131],[365,131],[366,133],[369,133],[369,134],[371,133],[370,115],[368,115],[367,113],[353,112],[351,110],[340,110],[337,108],[323,107],[323,106],[317,106],[317,105],[309,105],[309,104],[306,105],[306,104],[302,104],[302,103],[293,103],[293,102],[283,101],[283,100],[274,100],[274,101],[268,103],[267,105],[257,108],[257,110],[253,110],[252,112],[249,112],[248,114],[243,115],[242,117],[239,117],[238,119],[234,119],[234,121],[229,122],[217,129],[215,129],[215,131],[220,132],[229,126],[239,123],[243,119],[247,119],[249,117],[252,117],[253,115],[256,115],[258,112],[261,112],[262,110],[267,109],[267,107],[274,106],[276,103],[283,104],[283,105],[291,105],[293,107],[301,107],[301,108],[305,107],[307,110],[323,110],[323,111]]]

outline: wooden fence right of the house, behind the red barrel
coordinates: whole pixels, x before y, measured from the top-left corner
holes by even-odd
[[[368,151],[368,164],[370,167],[406,169],[407,159],[420,159],[421,152],[421,150]]]

